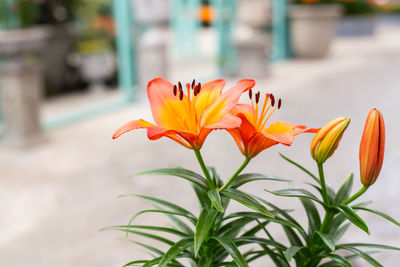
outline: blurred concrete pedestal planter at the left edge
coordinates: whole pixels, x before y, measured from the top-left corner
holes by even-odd
[[[0,31],[0,57],[4,59],[0,64],[3,143],[7,145],[27,147],[42,139],[40,53],[47,38],[47,28]]]

